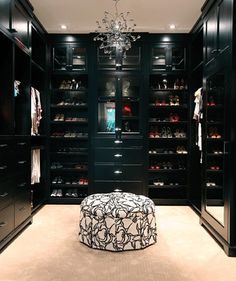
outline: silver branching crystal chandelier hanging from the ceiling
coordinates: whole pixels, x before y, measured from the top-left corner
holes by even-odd
[[[131,48],[131,43],[140,38],[139,35],[132,35],[136,24],[133,19],[129,18],[129,12],[119,13],[117,4],[120,0],[113,0],[115,2],[115,14],[104,12],[104,18],[97,21],[98,29],[95,31],[98,35],[94,41],[101,41],[100,49],[104,49],[104,53],[112,57],[116,51],[120,52],[123,58],[126,57],[126,51]]]

